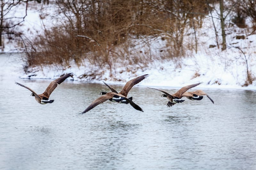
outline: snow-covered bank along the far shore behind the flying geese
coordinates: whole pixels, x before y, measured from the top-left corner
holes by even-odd
[[[232,88],[232,89],[256,89],[256,35],[246,39],[237,40],[228,35],[228,41],[233,46],[221,51],[217,48],[202,49],[197,54],[182,57],[176,60],[156,60],[146,67],[139,65],[126,65],[119,63],[111,72],[106,67],[91,65],[84,61],[83,66],[77,67],[75,63],[66,68],[46,66],[32,68],[31,73],[21,75],[21,78],[57,78],[64,73],[73,72],[74,80],[109,84],[125,84],[128,80],[143,74],[150,76],[140,82],[143,86],[180,87],[197,82],[204,82],[202,88]],[[136,40],[134,40],[136,41]],[[150,44],[152,54],[156,51],[166,50],[166,41],[154,41]],[[243,50],[244,54],[239,47]],[[136,50],[138,51],[138,47]],[[141,51],[147,51],[147,47],[140,47]],[[201,47],[202,48],[202,47]],[[136,51],[130,49],[131,51]],[[244,56],[245,55],[245,56]],[[245,58],[246,57],[246,58]],[[250,76],[253,78],[251,85],[246,86],[247,65]],[[125,66],[124,66],[125,65]]]

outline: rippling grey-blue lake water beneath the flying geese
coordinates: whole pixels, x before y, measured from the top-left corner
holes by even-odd
[[[106,85],[66,80],[41,105],[15,81],[41,94],[52,80],[18,78],[15,57],[0,55],[0,169],[256,169],[256,91],[202,89],[215,104],[167,107],[162,92],[135,85],[128,97],[144,112],[106,101],[80,115]]]

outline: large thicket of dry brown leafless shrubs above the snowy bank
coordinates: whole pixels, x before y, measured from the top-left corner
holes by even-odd
[[[183,37],[193,26],[200,25],[199,18],[206,13],[198,6],[204,1],[49,1],[60,6],[66,18],[60,26],[45,30],[29,45],[29,66],[56,64],[67,66],[71,61],[80,66],[87,59],[93,65],[114,70],[116,63],[138,64],[141,67],[159,59],[150,50],[137,55],[131,52],[127,40],[141,37],[163,36],[169,50],[163,58],[174,59],[185,55]],[[199,14],[197,15],[196,12]],[[193,15],[192,15],[193,14]],[[199,26],[198,26],[199,27]],[[146,44],[146,43],[145,43]],[[137,44],[135,44],[137,45]],[[27,45],[28,46],[28,45]]]

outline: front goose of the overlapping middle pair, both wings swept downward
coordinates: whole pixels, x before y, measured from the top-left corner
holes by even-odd
[[[88,112],[89,110],[91,110],[93,107],[99,105],[100,103],[103,103],[104,101],[116,101],[116,102],[121,102],[123,100],[126,100],[128,103],[130,103],[132,105],[132,107],[134,107],[136,110],[140,110],[143,112],[143,110],[136,105],[132,100],[126,98],[124,95],[122,94],[118,94],[115,92],[107,92],[106,94],[100,96],[98,99],[94,100],[90,106],[88,106],[82,113],[80,114],[84,114],[85,112]]]

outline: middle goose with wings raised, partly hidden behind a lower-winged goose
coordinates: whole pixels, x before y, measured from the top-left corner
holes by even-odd
[[[118,94],[121,94],[121,95],[124,95],[125,97],[127,97],[127,94],[128,94],[128,92],[132,89],[132,87],[133,87],[134,85],[140,83],[142,80],[144,80],[144,79],[147,78],[147,77],[148,77],[148,74],[144,74],[144,75],[142,75],[142,76],[133,78],[132,80],[126,82],[126,84],[124,85],[123,89],[122,89],[121,92],[119,92],[119,93],[118,93],[113,87],[111,87],[110,85],[108,85],[107,83],[105,83],[104,81],[103,81],[103,83],[104,83],[105,85],[107,85],[108,88],[110,88],[110,90],[111,90],[112,92],[115,92],[115,93],[118,93]],[[100,94],[102,94],[102,95],[104,95],[104,94],[106,94],[106,93],[107,93],[107,92],[100,92]],[[132,100],[132,97],[129,97],[128,99]],[[129,102],[123,100],[123,101],[120,101],[120,103],[128,104]]]

